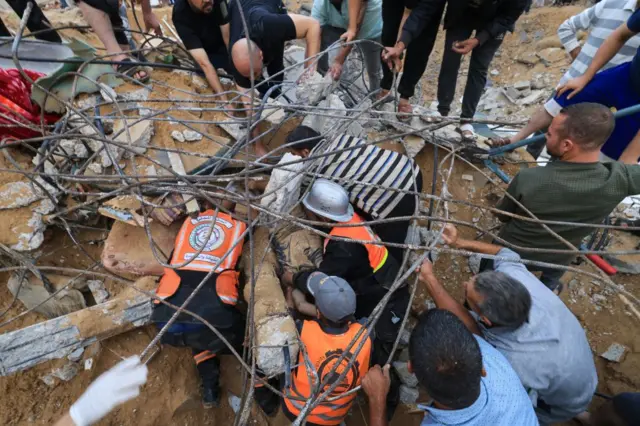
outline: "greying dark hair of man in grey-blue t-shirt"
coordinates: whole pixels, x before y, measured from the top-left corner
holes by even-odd
[[[529,320],[531,294],[520,281],[487,271],[476,275],[473,286],[484,298],[478,304],[482,315],[494,325],[518,328]]]

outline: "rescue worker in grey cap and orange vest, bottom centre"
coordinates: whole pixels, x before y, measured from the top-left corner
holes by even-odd
[[[371,337],[366,335],[366,330],[362,330],[364,326],[355,320],[356,294],[345,280],[327,276],[322,272],[313,272],[307,280],[307,290],[316,300],[317,318],[300,321],[297,325],[300,341],[306,348],[310,365],[317,374],[317,380],[322,383],[320,393],[329,388],[337,376],[347,368],[348,363],[354,360],[344,379],[328,396],[339,397],[359,386],[362,377],[369,371]],[[362,348],[357,351],[361,344]],[[340,361],[341,357],[343,359]],[[336,365],[338,361],[340,363]],[[307,370],[302,352],[298,355],[297,364],[291,384],[283,390],[285,397],[282,411],[291,421],[300,415],[312,390],[318,385],[317,382],[310,381],[310,377],[315,375]],[[309,413],[306,424],[339,425],[355,398],[356,394],[352,393],[333,401],[325,399]]]

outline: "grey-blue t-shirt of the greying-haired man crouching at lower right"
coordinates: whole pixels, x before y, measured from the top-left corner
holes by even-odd
[[[503,248],[498,256],[519,260]],[[551,408],[537,409],[541,423],[569,420],[584,411],[598,375],[585,332],[569,308],[522,263],[495,260],[494,270],[520,281],[531,294],[529,321],[517,330],[486,328],[484,338],[509,360],[520,381]],[[538,404],[539,405],[539,404]]]

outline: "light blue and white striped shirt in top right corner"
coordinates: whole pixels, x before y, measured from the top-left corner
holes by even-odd
[[[571,64],[571,68],[560,80],[559,85],[584,74],[598,48],[613,30],[627,22],[636,9],[636,3],[636,0],[603,0],[595,6],[572,16],[560,25],[558,37],[560,37],[560,41],[567,52],[571,52],[580,46],[577,38],[578,30],[589,31],[589,36],[584,46],[582,46],[580,54]],[[631,61],[639,46],[640,35],[636,35],[602,69],[606,70]]]

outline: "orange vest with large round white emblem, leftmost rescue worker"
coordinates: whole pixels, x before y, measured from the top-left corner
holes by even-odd
[[[234,269],[242,253],[243,241],[233,249],[231,247],[239,238],[243,238],[242,233],[247,229],[247,225],[228,214],[218,212],[211,229],[213,216],[214,211],[207,210],[196,218],[185,219],[176,237],[169,264],[181,265],[190,260],[188,264],[177,269],[206,273],[215,269],[219,274],[216,278],[218,296],[224,303],[235,305],[238,301],[238,274]],[[198,254],[200,249],[202,251]],[[220,262],[229,250],[232,252]],[[166,299],[173,296],[179,286],[180,276],[174,269],[165,268],[156,294],[161,299]]]

